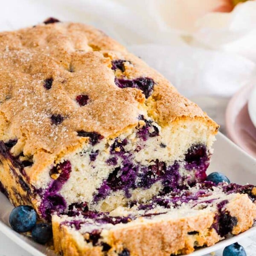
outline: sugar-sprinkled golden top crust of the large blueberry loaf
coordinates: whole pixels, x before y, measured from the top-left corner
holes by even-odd
[[[161,126],[199,117],[218,128],[100,30],[52,22],[0,33],[0,140],[17,139],[12,153],[33,158],[30,169],[137,125],[143,111]]]

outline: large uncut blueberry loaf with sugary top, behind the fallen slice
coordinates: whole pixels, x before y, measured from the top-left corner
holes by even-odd
[[[45,219],[203,181],[217,130],[97,29],[50,19],[0,33],[0,186]]]

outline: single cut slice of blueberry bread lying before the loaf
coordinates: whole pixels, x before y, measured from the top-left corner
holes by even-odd
[[[255,200],[254,186],[207,182],[110,213],[73,205],[52,218],[55,250],[64,256],[187,254],[250,228]]]

